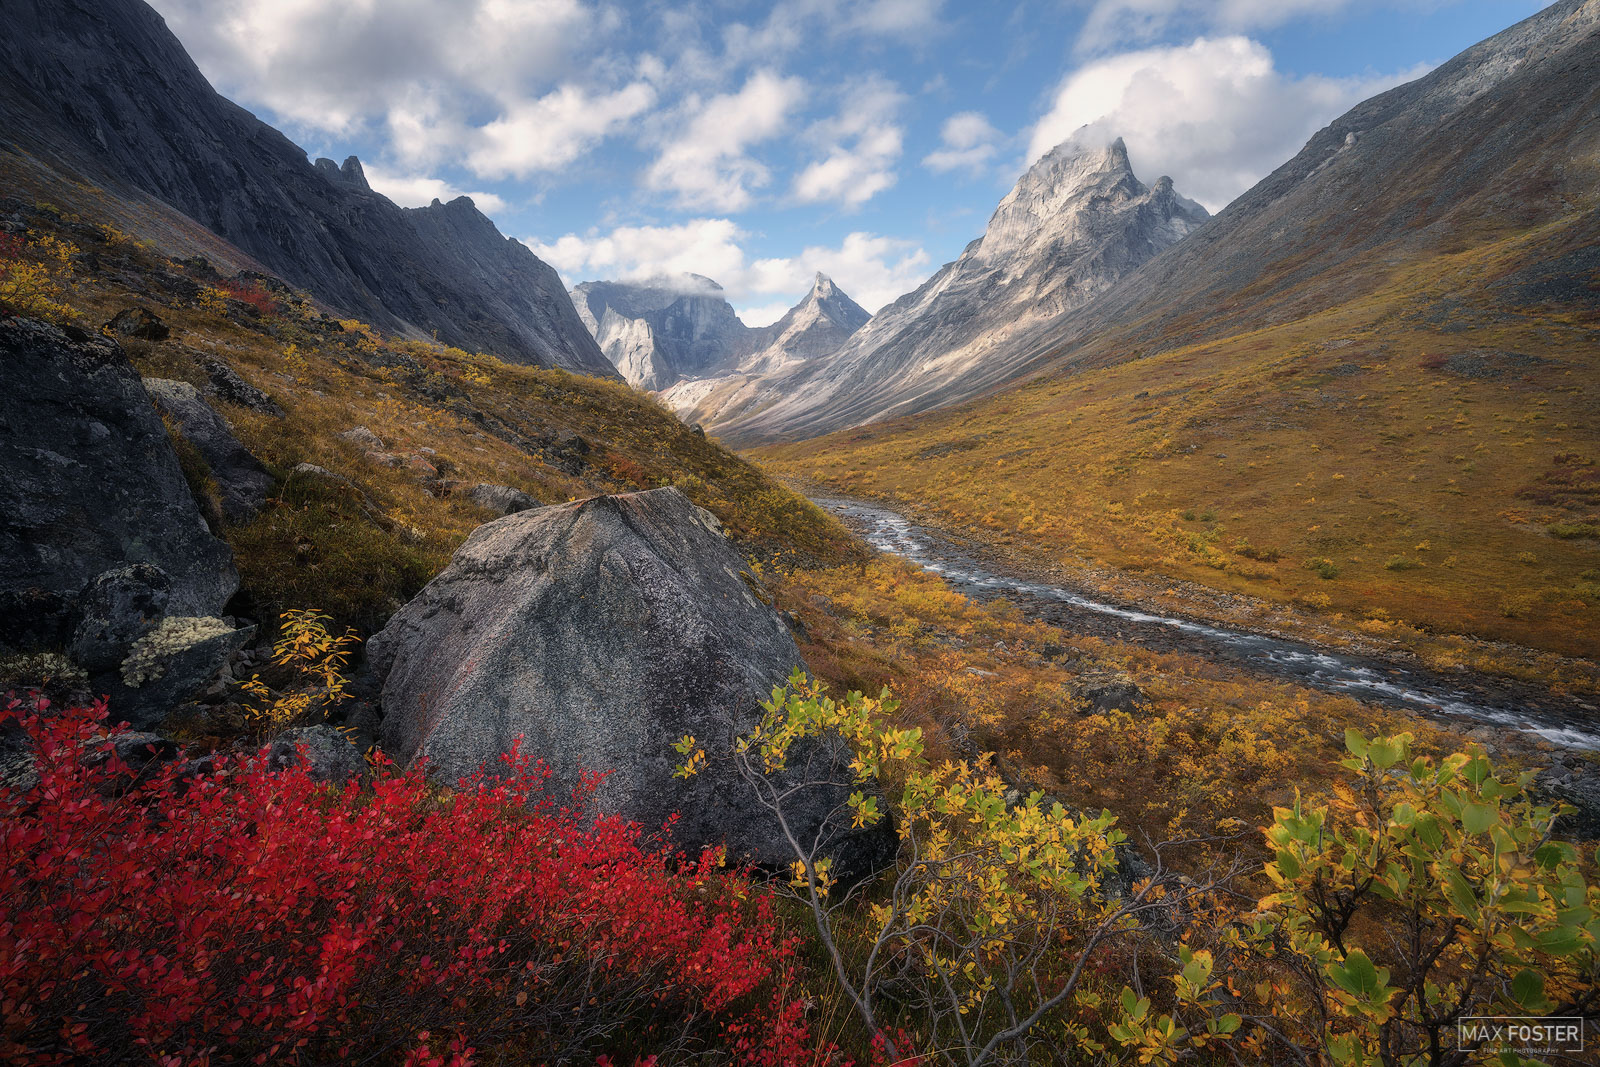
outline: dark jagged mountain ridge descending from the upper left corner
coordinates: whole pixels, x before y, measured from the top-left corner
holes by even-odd
[[[555,270],[470,200],[400,208],[354,157],[312,165],[219,96],[141,0],[6,0],[0,163],[147,194],[386,330],[613,374]]]

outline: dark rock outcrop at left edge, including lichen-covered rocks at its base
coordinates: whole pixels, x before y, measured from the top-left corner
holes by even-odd
[[[232,552],[206,528],[122,350],[0,322],[0,649],[69,648],[94,691],[112,693],[112,712],[147,725],[189,696],[179,678],[237,648],[219,619],[235,589]],[[208,625],[154,640],[171,621]],[[142,691],[125,670],[141,648],[141,681],[166,678]]]

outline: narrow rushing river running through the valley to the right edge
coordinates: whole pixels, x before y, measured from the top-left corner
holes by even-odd
[[[1565,749],[1600,750],[1600,713],[1579,699],[1515,680],[1451,677],[1427,669],[1333,651],[1269,633],[1227,629],[1109,603],[1062,585],[1005,574],[1002,568],[939,537],[894,510],[840,498],[814,498],[883,552],[939,574],[974,600],[1003,597],[1029,617],[1066,630],[1120,638],[1160,651],[1222,659],[1258,675],[1429,718],[1488,723],[1536,734]]]

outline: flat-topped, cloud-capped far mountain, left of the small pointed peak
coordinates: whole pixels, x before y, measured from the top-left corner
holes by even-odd
[[[699,275],[584,282],[571,298],[600,350],[640,389],[725,373],[747,347],[750,331],[722,286]]]

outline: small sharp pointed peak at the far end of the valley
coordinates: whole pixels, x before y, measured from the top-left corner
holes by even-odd
[[[818,272],[811,291],[770,326],[750,330],[733,373],[680,381],[661,398],[686,422],[715,426],[758,406],[763,384],[808,360],[837,352],[872,318],[830,277]]]

